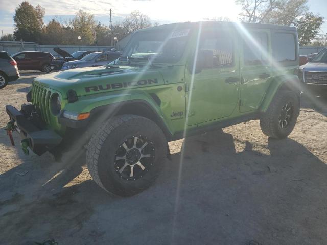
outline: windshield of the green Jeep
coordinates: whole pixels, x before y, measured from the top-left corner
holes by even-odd
[[[130,61],[176,63],[180,60],[190,29],[168,29],[137,32],[124,49],[121,58]]]

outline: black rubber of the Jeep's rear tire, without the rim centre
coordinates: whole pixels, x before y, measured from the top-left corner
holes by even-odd
[[[287,128],[282,128],[279,122],[283,106],[287,103],[292,105],[292,115]],[[290,135],[295,127],[299,114],[299,99],[292,91],[279,91],[272,100],[268,110],[260,118],[262,132],[270,138],[283,139]]]

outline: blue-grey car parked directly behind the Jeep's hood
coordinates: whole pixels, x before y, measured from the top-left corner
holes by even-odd
[[[64,63],[61,70],[90,67],[90,66],[103,66],[117,59],[120,55],[121,52],[115,52],[115,51],[100,51],[100,52],[90,53],[84,56],[81,60],[68,61]]]

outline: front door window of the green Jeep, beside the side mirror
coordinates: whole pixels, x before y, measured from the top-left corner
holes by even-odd
[[[225,32],[203,33],[199,49],[213,54],[213,66],[228,66],[233,64],[233,40]]]

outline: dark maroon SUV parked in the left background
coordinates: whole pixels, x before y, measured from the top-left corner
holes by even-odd
[[[19,70],[51,71],[51,61],[55,59],[51,53],[40,51],[22,51],[11,56]]]

